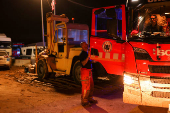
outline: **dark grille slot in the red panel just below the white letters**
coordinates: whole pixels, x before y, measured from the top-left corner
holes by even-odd
[[[170,66],[153,66],[149,65],[151,73],[168,73],[170,74]]]

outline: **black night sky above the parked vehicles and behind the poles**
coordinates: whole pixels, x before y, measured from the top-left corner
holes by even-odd
[[[51,1],[43,0],[44,28],[46,34],[47,12],[51,12]],[[87,24],[91,27],[90,7],[103,7],[125,3],[125,0],[71,0],[87,7],[69,2],[56,0],[56,14],[66,14],[75,23]],[[106,2],[107,1],[107,2]],[[41,42],[41,0],[0,0],[0,33],[12,38],[12,42],[25,44]]]

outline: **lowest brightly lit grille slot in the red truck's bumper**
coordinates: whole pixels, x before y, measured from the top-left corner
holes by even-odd
[[[159,98],[170,98],[170,92],[152,91],[151,96]]]

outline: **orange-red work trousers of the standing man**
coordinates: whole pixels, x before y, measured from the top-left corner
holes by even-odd
[[[81,68],[82,102],[88,102],[93,98],[94,83],[92,69]]]

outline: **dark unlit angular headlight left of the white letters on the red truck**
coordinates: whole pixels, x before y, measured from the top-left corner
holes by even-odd
[[[136,59],[139,59],[139,60],[151,60],[152,59],[149,53],[144,49],[134,47],[133,50],[134,50]]]

